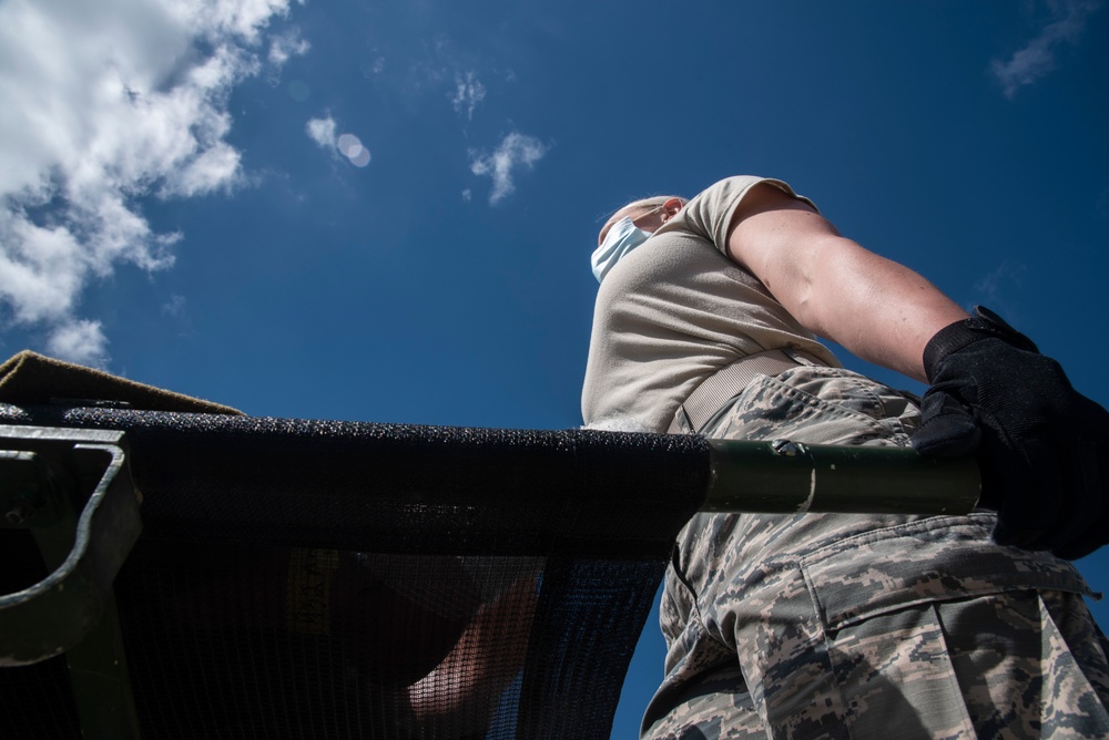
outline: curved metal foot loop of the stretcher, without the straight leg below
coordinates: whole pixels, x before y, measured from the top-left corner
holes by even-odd
[[[0,666],[19,666],[96,626],[142,522],[123,432],[0,425],[0,527],[30,528],[53,569],[0,596]]]

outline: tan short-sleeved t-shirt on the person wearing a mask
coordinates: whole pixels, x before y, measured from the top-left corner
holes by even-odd
[[[801,349],[840,367],[762,282],[726,256],[732,215],[759,183],[801,197],[777,179],[729,177],[690,201],[604,277],[581,392],[587,424],[630,419],[663,432],[706,378],[770,349]]]

